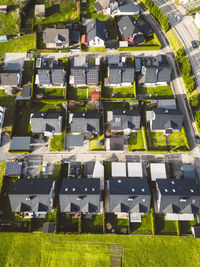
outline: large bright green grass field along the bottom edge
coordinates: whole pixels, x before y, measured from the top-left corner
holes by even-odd
[[[193,237],[0,233],[0,243],[1,266],[110,266],[108,243],[123,247],[124,267],[200,266],[200,240]]]

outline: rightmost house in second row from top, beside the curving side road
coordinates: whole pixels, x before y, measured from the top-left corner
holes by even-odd
[[[166,86],[171,82],[171,67],[164,55],[155,58],[142,58],[141,75],[138,76],[140,86]]]

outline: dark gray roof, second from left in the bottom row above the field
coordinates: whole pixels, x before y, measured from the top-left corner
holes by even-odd
[[[100,179],[63,179],[59,193],[60,211],[65,213],[99,213]]]

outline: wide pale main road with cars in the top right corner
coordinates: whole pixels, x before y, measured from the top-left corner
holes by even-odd
[[[163,9],[166,15],[168,15],[172,28],[185,47],[196,77],[198,90],[200,92],[200,47],[193,49],[191,45],[193,40],[199,40],[199,32],[194,25],[193,18],[191,16],[186,16],[185,10],[181,6],[175,5],[171,1],[154,0],[154,2]],[[174,15],[176,14],[181,16],[180,22],[177,22],[174,19]]]

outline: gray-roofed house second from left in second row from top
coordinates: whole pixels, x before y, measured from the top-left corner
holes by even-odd
[[[65,88],[67,73],[64,68],[38,69],[35,84],[39,88]]]

